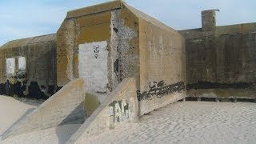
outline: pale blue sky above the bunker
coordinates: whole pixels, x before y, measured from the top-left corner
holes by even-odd
[[[1,0],[0,46],[58,30],[66,12],[110,0]],[[126,0],[175,30],[201,27],[201,11],[219,9],[217,25],[256,22],[255,0]]]

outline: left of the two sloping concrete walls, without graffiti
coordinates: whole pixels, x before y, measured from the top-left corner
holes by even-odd
[[[85,118],[84,100],[85,89],[82,79],[75,79],[62,87],[46,102],[38,106],[30,114],[15,122],[1,136],[6,139],[10,136],[24,134],[34,130],[43,130],[53,126],[66,124]]]

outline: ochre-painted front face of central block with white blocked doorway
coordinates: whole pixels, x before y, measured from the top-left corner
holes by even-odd
[[[103,102],[123,78],[139,76],[137,32],[138,18],[122,2],[68,12],[58,30],[58,86],[83,78]]]

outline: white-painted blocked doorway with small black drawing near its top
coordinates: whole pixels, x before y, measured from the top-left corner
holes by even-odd
[[[107,91],[107,42],[90,42],[79,45],[79,77],[86,82],[90,94]]]

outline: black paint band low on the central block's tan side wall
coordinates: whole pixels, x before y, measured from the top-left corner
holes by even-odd
[[[140,90],[137,91],[138,101],[148,100],[154,97],[162,98],[167,94],[172,94],[174,92],[181,92],[185,90],[185,83],[178,82],[173,85],[166,85],[165,82],[150,82],[149,85],[150,90],[141,92]]]

